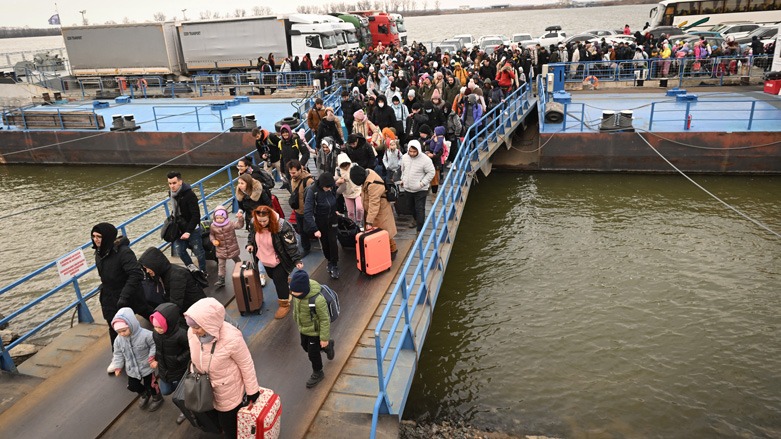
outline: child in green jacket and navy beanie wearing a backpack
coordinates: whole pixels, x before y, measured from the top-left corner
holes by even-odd
[[[301,334],[301,347],[312,363],[312,375],[306,381],[306,388],[315,387],[325,378],[323,372],[323,357],[325,350],[329,360],[334,359],[334,341],[331,340],[331,318],[328,315],[328,304],[320,294],[320,284],[309,279],[304,270],[296,270],[290,276],[290,292],[293,295],[293,317]],[[314,312],[310,307],[310,299],[314,298]]]

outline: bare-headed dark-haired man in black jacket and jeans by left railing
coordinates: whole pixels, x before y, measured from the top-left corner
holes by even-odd
[[[182,181],[179,172],[168,173],[168,188],[171,197],[171,212],[182,218],[184,227],[182,235],[173,242],[174,252],[190,266],[193,260],[187,253],[187,248],[192,247],[195,257],[198,259],[198,267],[206,273],[206,252],[203,250],[201,235],[201,209],[198,207],[198,197],[189,184]],[[186,309],[186,308],[185,308]]]

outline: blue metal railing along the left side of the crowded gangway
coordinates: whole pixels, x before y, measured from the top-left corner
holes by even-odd
[[[339,98],[340,93],[341,93],[341,86],[335,84],[333,87],[329,87],[326,90],[318,91],[318,93],[316,93],[311,98],[303,102],[300,108],[302,109],[305,108],[308,111],[309,108],[314,106],[314,100],[318,97],[322,98],[324,102],[328,103],[328,105],[334,106],[334,108],[338,108],[340,104],[340,98]],[[303,128],[305,130],[305,134],[309,134],[309,128],[306,125],[306,121],[301,121],[301,123],[295,129],[298,130],[300,128]],[[314,136],[311,137],[312,139],[314,139]],[[312,140],[310,143],[314,145],[313,142],[314,140]],[[248,152],[248,154],[252,154],[252,153],[254,153],[254,150]],[[210,209],[209,208],[210,206],[216,207],[218,205],[228,205],[229,203],[235,203],[234,180],[236,176],[234,176],[233,174],[233,166],[235,166],[239,160],[240,159],[234,160],[233,162],[223,166],[217,171],[207,175],[206,177],[198,180],[197,182],[191,185],[193,190],[197,190],[200,192],[199,203],[201,204],[201,209],[204,213],[202,218],[204,219],[208,218],[211,212],[213,212],[214,209],[213,208]],[[209,186],[208,182],[219,178],[224,178],[224,180],[218,182],[217,183],[218,186],[216,188],[212,190],[207,189],[207,186]],[[224,194],[224,191],[226,190],[228,190],[227,196],[225,196]],[[144,242],[147,245],[149,245],[149,243],[152,243],[158,248],[163,248],[168,246],[169,245],[168,243],[163,242],[159,238],[159,231],[160,228],[163,226],[163,221],[165,220],[165,218],[167,218],[170,215],[169,202],[170,199],[166,198],[165,200],[162,200],[156,203],[155,205],[153,205],[152,207],[144,210],[143,212],[133,216],[127,221],[120,223],[117,226],[119,233],[124,236],[129,236],[128,235],[129,229],[132,226],[138,226],[141,230],[145,230],[145,231],[141,232],[136,238],[130,241],[131,246],[136,245],[139,242]],[[235,207],[236,206],[234,205],[234,208]],[[87,242],[85,244],[82,244],[78,248],[69,251],[68,253],[63,255],[63,257],[77,250],[83,251],[85,249],[90,248],[91,246],[92,243]],[[54,271],[56,270],[57,261],[60,259],[62,259],[62,257],[57,258],[43,265],[41,268],[33,271],[32,273],[29,273],[17,279],[16,281],[4,286],[2,289],[0,289],[0,297],[3,297],[6,294],[10,295],[13,292],[21,292],[21,293],[27,292],[27,291],[22,291],[22,289],[19,288],[26,284],[27,285],[29,285],[30,283],[50,284],[52,282],[52,277],[57,276],[57,273]],[[85,278],[90,274],[92,275],[91,278]],[[97,280],[95,279],[94,275],[95,275],[95,265],[91,264],[84,272],[75,275],[72,279],[66,282],[59,282],[58,284],[56,284],[56,286],[49,289],[45,293],[41,294],[36,299],[26,303],[25,305],[15,310],[8,316],[0,319],[0,326],[3,326],[6,323],[9,323],[16,318],[19,318],[20,316],[29,317],[30,310],[32,308],[40,305],[46,299],[54,296],[57,293],[62,292],[66,288],[73,287],[74,294],[75,294],[75,298],[73,301],[55,310],[53,315],[47,317],[42,323],[36,325],[34,328],[22,334],[21,337],[19,337],[17,340],[10,343],[8,346],[3,347],[2,343],[0,343],[0,370],[15,371],[16,365],[11,359],[9,351],[14,349],[14,347],[23,343],[25,340],[29,339],[33,335],[37,334],[42,329],[49,326],[58,318],[72,311],[73,309],[77,310],[79,323],[92,323],[94,321],[86,303],[87,300],[97,295],[100,289],[99,285],[92,286],[93,284],[97,283]],[[86,290],[87,293],[86,294],[82,293],[82,290]],[[9,296],[5,296],[5,297],[9,297]]]

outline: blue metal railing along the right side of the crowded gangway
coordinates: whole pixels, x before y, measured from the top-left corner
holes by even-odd
[[[429,313],[433,313],[442,282],[442,276],[437,277],[437,273],[445,270],[445,261],[440,253],[442,245],[454,238],[455,231],[450,221],[455,218],[459,204],[466,201],[464,194],[471,183],[472,175],[480,165],[480,153],[487,152],[491,142],[497,142],[501,136],[510,134],[513,125],[532,111],[535,103],[531,89],[526,84],[469,127],[450,170],[440,182],[431,211],[397,276],[398,283],[374,329],[379,389],[372,413],[372,438],[376,437],[379,416],[392,412],[388,386],[402,352],[419,349],[423,344],[425,333],[415,334],[412,329],[413,319],[418,312],[418,305],[429,303]],[[416,257],[418,261],[413,263]],[[438,283],[429,285],[435,279],[439,279]],[[392,315],[396,305],[400,306]],[[386,330],[384,327],[389,321],[389,333],[383,340],[383,332]],[[392,345],[394,341],[395,346]],[[387,366],[386,361],[389,361]],[[410,384],[411,381],[407,383],[405,399]],[[401,407],[404,402],[402,401]]]

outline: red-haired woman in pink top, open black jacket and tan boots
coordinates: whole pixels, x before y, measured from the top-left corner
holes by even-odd
[[[274,282],[279,308],[274,318],[284,318],[290,312],[290,290],[287,277],[296,267],[303,268],[298,253],[293,226],[268,206],[260,206],[252,213],[254,233],[247,239],[247,251],[255,262],[263,264],[266,274]]]

